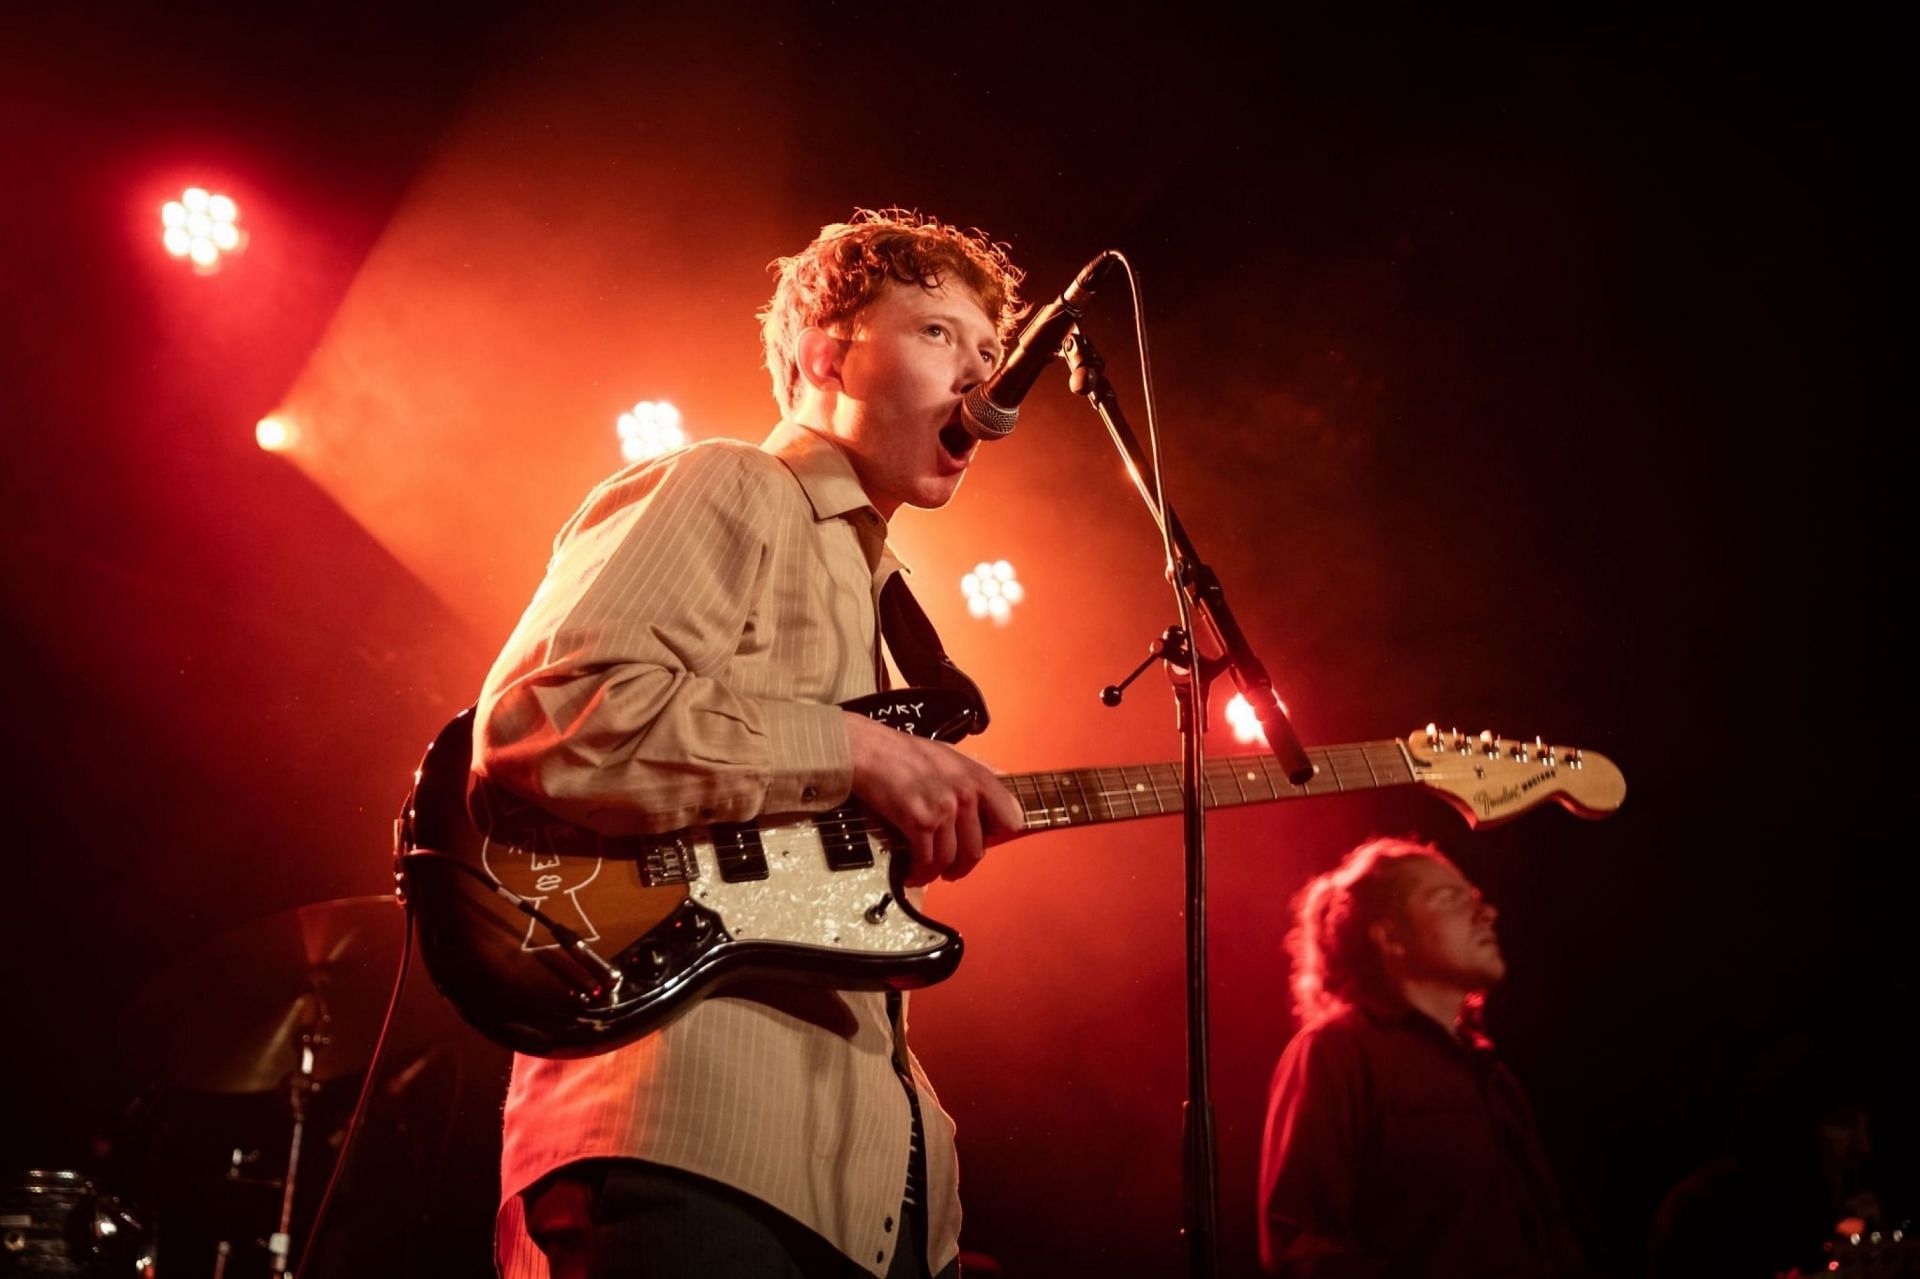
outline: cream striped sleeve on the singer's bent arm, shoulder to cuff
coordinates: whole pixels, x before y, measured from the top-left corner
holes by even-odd
[[[841,711],[730,678],[768,643],[774,593],[803,590],[781,580],[806,567],[781,522],[791,484],[766,453],[722,444],[595,490],[488,674],[476,772],[609,833],[845,801]]]

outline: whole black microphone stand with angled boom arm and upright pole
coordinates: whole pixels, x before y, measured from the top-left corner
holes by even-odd
[[[1187,607],[1185,615],[1198,630],[1206,626],[1217,640],[1221,655],[1204,655],[1200,636],[1188,636],[1183,628],[1169,628],[1154,641],[1154,651],[1146,663],[1135,668],[1117,686],[1108,686],[1100,701],[1119,705],[1121,689],[1146,668],[1154,657],[1167,666],[1173,684],[1175,712],[1181,732],[1181,822],[1187,843],[1187,1106],[1183,1112],[1183,1223],[1187,1235],[1187,1267],[1190,1275],[1206,1279],[1217,1267],[1219,1235],[1219,1154],[1213,1137],[1213,1095],[1208,1074],[1208,935],[1206,935],[1206,789],[1204,768],[1206,751],[1202,734],[1206,732],[1208,686],[1225,670],[1233,676],[1240,695],[1254,707],[1260,724],[1267,734],[1267,745],[1279,759],[1281,768],[1294,785],[1304,785],[1313,776],[1306,747],[1286,720],[1273,682],[1265,666],[1254,657],[1246,636],[1240,632],[1233,611],[1227,607],[1227,593],[1213,570],[1194,551],[1192,540],[1181,526],[1173,507],[1162,505],[1148,486],[1146,457],[1140,442],[1127,424],[1125,413],[1114,386],[1106,380],[1106,361],[1077,326],[1068,332],[1062,348],[1075,396],[1085,396],[1100,421],[1106,422],[1114,446],[1127,463],[1135,488],[1146,501],[1148,513],[1165,538],[1171,557],[1169,572],[1175,590],[1181,591]]]

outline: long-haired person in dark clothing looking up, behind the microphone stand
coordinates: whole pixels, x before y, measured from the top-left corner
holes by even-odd
[[[1478,1033],[1494,906],[1432,845],[1373,839],[1294,901],[1300,1033],[1260,1160],[1283,1275],[1580,1273],[1519,1081]]]

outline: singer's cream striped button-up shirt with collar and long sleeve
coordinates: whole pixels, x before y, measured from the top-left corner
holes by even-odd
[[[601,484],[488,674],[474,768],[603,832],[843,803],[833,705],[879,684],[885,520],[837,446],[783,422]],[[902,1231],[910,1110],[877,993],[776,987],[695,1002],[599,1056],[516,1056],[497,1262],[545,1279],[520,1191],[580,1158],[712,1177],[876,1275]],[[912,1064],[927,1139],[927,1262],[958,1252],[952,1120]]]

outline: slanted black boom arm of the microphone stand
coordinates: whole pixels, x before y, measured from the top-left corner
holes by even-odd
[[[1066,357],[1073,373],[1073,394],[1085,396],[1100,415],[1100,421],[1106,422],[1106,432],[1127,461],[1127,474],[1133,476],[1133,486],[1140,492],[1140,499],[1146,501],[1146,509],[1158,524],[1160,503],[1154,499],[1154,490],[1146,484],[1146,461],[1140,453],[1140,442],[1127,424],[1127,415],[1119,409],[1114,386],[1106,380],[1106,361],[1079,328],[1068,332]],[[1246,632],[1235,620],[1233,609],[1227,605],[1225,588],[1221,588],[1219,578],[1194,551],[1194,543],[1188,540],[1187,528],[1181,526],[1181,517],[1175,515],[1173,503],[1167,503],[1164,530],[1167,543],[1173,547],[1175,584],[1187,593],[1194,611],[1206,618],[1206,624],[1212,626],[1213,636],[1219,640],[1227,672],[1260,718],[1260,728],[1267,736],[1267,747],[1281,760],[1286,780],[1294,785],[1306,785],[1313,780],[1313,762],[1308,759],[1308,751],[1300,743],[1292,720],[1286,718],[1279,693],[1273,691],[1267,668],[1254,657],[1254,649],[1246,641]]]

